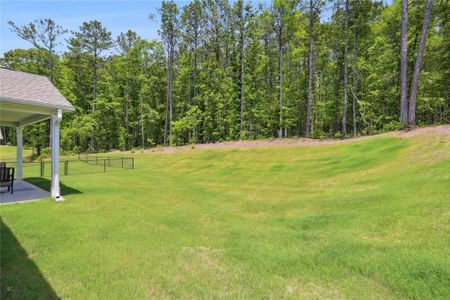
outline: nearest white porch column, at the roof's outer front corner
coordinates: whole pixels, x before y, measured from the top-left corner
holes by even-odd
[[[59,192],[59,122],[62,119],[62,110],[58,109],[56,115],[50,118],[50,143],[52,155],[52,197],[56,201],[64,200]]]

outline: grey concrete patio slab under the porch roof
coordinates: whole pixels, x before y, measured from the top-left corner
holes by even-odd
[[[7,191],[7,188],[1,188],[0,204],[12,204],[27,201],[36,201],[51,197],[51,194],[29,182],[16,180],[14,182],[14,194]]]

